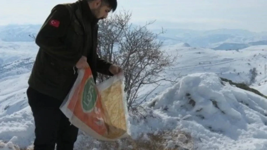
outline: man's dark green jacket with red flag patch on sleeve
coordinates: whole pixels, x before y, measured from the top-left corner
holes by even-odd
[[[29,86],[64,100],[77,78],[75,65],[83,55],[95,81],[97,72],[112,76],[108,71],[111,63],[97,55],[97,22],[86,0],[55,6],[36,36],[40,48]]]

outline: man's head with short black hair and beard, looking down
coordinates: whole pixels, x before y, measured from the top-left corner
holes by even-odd
[[[107,18],[108,13],[117,8],[117,0],[87,0],[93,15],[97,19]]]

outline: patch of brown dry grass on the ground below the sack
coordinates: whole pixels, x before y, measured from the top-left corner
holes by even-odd
[[[114,142],[84,140],[76,149],[91,150],[193,150],[193,139],[183,132],[165,131],[154,134],[143,135],[134,140],[125,138]],[[96,144],[97,143],[97,144]],[[80,147],[81,146],[81,147]]]

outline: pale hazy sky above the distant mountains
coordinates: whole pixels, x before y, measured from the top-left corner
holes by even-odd
[[[0,0],[0,25],[42,24],[53,6],[75,0]],[[267,0],[118,0],[132,22],[153,28],[267,31]]]

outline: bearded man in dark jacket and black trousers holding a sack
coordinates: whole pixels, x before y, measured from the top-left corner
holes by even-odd
[[[36,36],[40,47],[27,96],[35,122],[34,150],[71,150],[78,128],[71,125],[59,107],[77,78],[77,70],[89,67],[115,75],[121,68],[97,55],[99,19],[115,11],[116,0],[79,0],[55,6]]]

